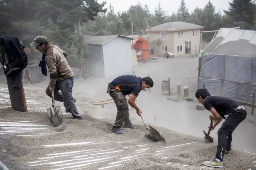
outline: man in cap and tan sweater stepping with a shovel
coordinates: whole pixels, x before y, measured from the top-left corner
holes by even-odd
[[[82,116],[76,109],[76,100],[72,96],[74,85],[74,73],[64,55],[65,51],[58,46],[50,45],[44,36],[37,36],[30,46],[43,53],[41,60],[41,68],[45,68],[42,72],[47,75],[46,65],[50,73],[50,82],[45,92],[49,97],[52,97],[54,91],[54,99],[63,102],[66,112],[71,113],[73,118],[81,119]],[[60,90],[60,92],[59,92]]]

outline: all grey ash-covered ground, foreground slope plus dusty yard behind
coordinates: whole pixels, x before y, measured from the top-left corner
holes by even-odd
[[[146,122],[156,127],[166,144],[145,137],[146,129],[134,110],[130,111],[131,121],[138,129],[124,129],[123,135],[115,135],[110,132],[116,116],[115,105],[101,108],[86,104],[91,100],[109,99],[105,85],[111,78],[75,82],[73,94],[78,99],[76,105],[83,120],[73,120],[71,115],[64,114],[64,123],[55,128],[50,126],[46,113],[51,99],[44,89],[35,87],[45,88],[47,82],[25,85],[28,113],[5,108],[10,106],[8,89],[1,85],[0,161],[10,170],[207,169],[202,162],[215,155],[217,142],[216,138],[214,143],[203,139],[210,114],[197,111],[196,102],[167,100],[161,91],[161,81],[170,77],[173,92],[180,83],[189,86],[193,98],[197,88],[197,63],[198,58],[161,59],[139,63],[134,68],[135,74],[140,77],[150,74],[155,82],[150,92],[140,93],[137,103]],[[62,103],[56,102],[56,105],[65,113]],[[217,129],[211,132],[212,137],[217,136]],[[225,157],[222,169],[255,168],[255,129],[248,121],[237,127],[233,154]]]

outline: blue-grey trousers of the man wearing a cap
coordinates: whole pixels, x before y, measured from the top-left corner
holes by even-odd
[[[69,112],[72,114],[72,116],[81,117],[81,115],[78,113],[76,109],[74,98],[72,96],[73,85],[74,85],[74,77],[57,81],[54,89],[54,100],[63,102],[67,113]],[[52,97],[52,93],[50,92],[49,85],[46,88],[45,92],[49,97]]]

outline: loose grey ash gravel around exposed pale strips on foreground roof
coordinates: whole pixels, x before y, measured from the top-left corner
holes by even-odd
[[[49,132],[59,132],[47,136],[38,137],[18,137],[15,135],[1,135],[0,156],[2,161],[10,170],[25,169],[58,169],[62,166],[67,169],[76,168],[75,166],[85,167],[89,162],[88,159],[72,161],[71,156],[63,156],[49,161],[50,164],[28,166],[28,162],[35,162],[45,158],[47,154],[60,152],[83,151],[72,156],[82,156],[87,154],[98,153],[97,150],[120,151],[120,153],[106,153],[109,160],[99,160],[98,163],[88,165],[90,169],[98,169],[106,166],[113,166],[109,169],[132,169],[132,170],[183,170],[198,169],[202,166],[202,162],[214,156],[216,145],[206,143],[202,138],[196,138],[189,135],[177,133],[162,127],[155,127],[165,137],[166,144],[163,142],[155,143],[144,136],[145,127],[136,124],[138,129],[124,129],[124,135],[115,135],[110,132],[111,120],[96,119],[89,115],[84,115],[83,120],[69,119],[70,115],[63,115],[64,123],[59,127],[51,127],[48,122],[47,114],[42,112],[20,113],[13,111],[11,108],[1,109],[0,117],[9,121],[31,121],[31,123],[47,125]],[[40,132],[40,131],[39,131]],[[39,133],[37,132],[37,133]],[[77,143],[77,142],[93,142],[94,144],[61,146],[61,147],[40,147],[40,145]],[[188,144],[191,143],[191,144]],[[186,144],[177,146],[180,144]],[[139,146],[138,146],[139,145]],[[173,147],[170,147],[173,146]],[[169,147],[169,148],[166,148]],[[103,149],[100,149],[103,148]],[[164,149],[166,148],[166,149]],[[90,150],[88,152],[84,150]],[[95,151],[94,151],[95,150]],[[6,152],[2,152],[6,151]],[[144,151],[144,152],[143,152]],[[136,153],[137,152],[137,153]],[[161,153],[162,152],[162,153]],[[155,155],[160,153],[159,155]],[[135,155],[135,156],[134,156]],[[98,156],[98,155],[94,155]],[[102,157],[94,159],[103,159]],[[115,157],[116,156],[116,157]],[[129,156],[134,156],[128,158]],[[49,157],[49,156],[48,156]],[[85,156],[87,157],[87,156]],[[90,156],[93,157],[93,156]],[[118,163],[124,157],[124,162]],[[163,159],[165,158],[165,159]],[[231,156],[225,157],[225,168],[232,170],[245,170],[252,167],[250,154],[234,150]],[[131,159],[131,160],[129,160]],[[65,163],[54,163],[54,161],[68,161]],[[83,162],[84,161],[84,162]],[[116,162],[115,164],[108,164]],[[80,162],[80,163],[79,163]],[[44,162],[40,162],[44,163]],[[40,164],[38,163],[38,164]],[[169,164],[167,164],[169,163]],[[37,164],[37,163],[34,163]],[[66,164],[66,165],[65,165]],[[175,165],[179,164],[179,165]],[[186,166],[187,165],[187,166]],[[183,167],[186,166],[186,167]],[[193,167],[194,166],[194,167]],[[87,167],[87,166],[86,166]],[[65,168],[64,168],[65,169]]]

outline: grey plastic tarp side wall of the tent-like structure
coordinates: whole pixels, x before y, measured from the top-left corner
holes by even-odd
[[[256,59],[251,57],[203,53],[199,88],[205,84],[211,95],[251,102],[251,86],[256,85],[252,67],[256,68]]]

